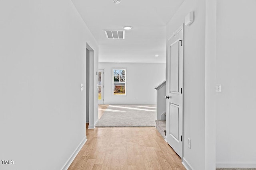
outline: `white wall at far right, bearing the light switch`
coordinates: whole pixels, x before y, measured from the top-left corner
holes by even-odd
[[[255,7],[255,0],[217,0],[217,167],[256,168]]]

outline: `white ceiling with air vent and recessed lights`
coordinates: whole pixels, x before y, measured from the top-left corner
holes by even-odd
[[[72,0],[99,44],[99,62],[165,63],[166,24],[184,0]],[[107,39],[104,29],[123,30]],[[159,57],[154,57],[159,55]]]

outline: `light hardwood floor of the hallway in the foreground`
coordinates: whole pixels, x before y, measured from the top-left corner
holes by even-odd
[[[88,141],[68,170],[185,170],[155,127],[87,128]]]

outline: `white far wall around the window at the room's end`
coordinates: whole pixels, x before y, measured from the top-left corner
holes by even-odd
[[[104,104],[156,104],[158,84],[165,80],[165,63],[99,63],[104,69]],[[126,96],[113,95],[112,69],[126,68]]]

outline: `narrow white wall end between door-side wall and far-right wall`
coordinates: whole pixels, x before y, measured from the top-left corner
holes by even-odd
[[[205,170],[216,169],[216,0],[206,0]]]

